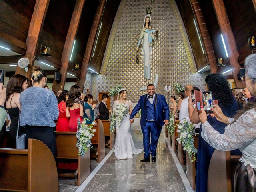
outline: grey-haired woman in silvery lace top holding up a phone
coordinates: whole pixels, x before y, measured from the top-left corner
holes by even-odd
[[[248,56],[244,66],[246,87],[256,95],[256,54]],[[218,105],[214,105],[212,117],[228,125],[223,134],[209,124],[204,109],[201,110],[202,138],[218,150],[239,148],[243,154],[234,173],[233,192],[256,192],[256,104],[248,102],[235,118],[228,118]]]

